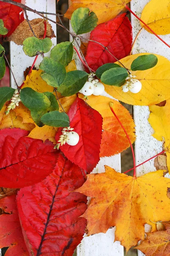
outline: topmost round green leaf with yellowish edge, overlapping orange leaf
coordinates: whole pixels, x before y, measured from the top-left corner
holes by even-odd
[[[88,8],[78,8],[71,16],[71,26],[76,35],[90,32],[97,26],[98,18]]]

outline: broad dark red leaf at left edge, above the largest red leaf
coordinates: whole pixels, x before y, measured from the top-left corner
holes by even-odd
[[[43,180],[56,167],[58,154],[50,141],[26,138],[28,131],[0,131],[0,186],[21,188]]]

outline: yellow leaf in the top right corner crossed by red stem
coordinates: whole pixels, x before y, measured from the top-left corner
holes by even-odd
[[[170,0],[150,0],[143,9],[141,20],[157,35],[170,34]],[[141,26],[150,32],[142,22]]]

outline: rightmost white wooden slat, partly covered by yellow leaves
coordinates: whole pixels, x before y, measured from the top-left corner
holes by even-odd
[[[130,2],[130,8],[139,17],[144,9],[144,6],[149,0],[132,0]],[[139,29],[141,28],[139,21],[131,15],[131,23],[133,27],[133,39],[136,37]],[[169,35],[161,35],[161,38],[170,44]],[[163,44],[155,35],[150,34],[146,30],[142,29],[136,44],[133,48],[133,54],[141,52],[150,52],[162,55],[170,60],[170,48]],[[135,142],[135,156],[136,165],[142,163],[148,158],[162,151],[162,143],[153,138],[153,129],[148,122],[149,108],[142,106],[134,106],[134,121],[136,125],[136,142]],[[148,172],[156,171],[154,167],[154,160],[151,160],[144,165],[140,166],[136,170],[137,176],[141,176]],[[150,226],[146,225],[145,230],[148,232]],[[144,256],[141,251],[138,251],[138,256]]]

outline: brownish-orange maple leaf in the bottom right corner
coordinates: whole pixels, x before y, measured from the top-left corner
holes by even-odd
[[[163,224],[165,231],[147,233],[147,239],[135,249],[141,250],[146,256],[170,256],[170,223]]]

